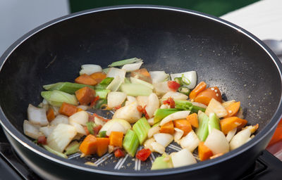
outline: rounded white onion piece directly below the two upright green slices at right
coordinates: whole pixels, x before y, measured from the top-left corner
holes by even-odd
[[[207,136],[206,141],[204,141],[204,146],[207,146],[214,155],[219,153],[228,153],[229,144],[226,136],[222,131],[218,129],[212,129],[212,131]]]

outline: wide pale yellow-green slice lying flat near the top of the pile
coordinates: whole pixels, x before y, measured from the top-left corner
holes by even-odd
[[[149,96],[152,94],[152,89],[143,84],[121,84],[121,91],[128,96]]]

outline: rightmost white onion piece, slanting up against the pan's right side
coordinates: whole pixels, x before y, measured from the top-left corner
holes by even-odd
[[[251,131],[250,128],[243,129],[239,131],[233,139],[231,139],[230,142],[230,150],[234,150],[235,148],[239,148],[244,143],[247,143],[247,141],[250,139]]]

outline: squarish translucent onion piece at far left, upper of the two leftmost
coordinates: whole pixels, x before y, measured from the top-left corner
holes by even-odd
[[[27,118],[32,124],[46,126],[49,124],[46,116],[46,110],[43,108],[36,108],[29,104],[27,108]]]

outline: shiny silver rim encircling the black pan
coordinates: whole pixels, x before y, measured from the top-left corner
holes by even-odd
[[[34,30],[31,30],[30,32],[27,32],[27,34],[23,35],[23,37],[20,37],[16,42],[14,42],[1,56],[0,61],[3,61],[0,65],[0,71],[3,68],[4,63],[8,59],[8,57],[13,53],[15,49],[17,49],[20,44],[23,43],[26,39],[32,37],[33,34],[36,34],[39,31],[44,30],[45,28],[54,25],[56,23],[60,23],[61,21],[68,20],[70,18],[75,18],[80,15],[87,15],[90,13],[98,13],[102,11],[116,11],[119,9],[128,9],[128,8],[144,8],[144,9],[157,9],[157,10],[164,10],[164,11],[176,11],[179,13],[187,13],[190,15],[197,15],[202,18],[207,18],[209,20],[213,20],[216,23],[221,23],[223,25],[226,25],[228,27],[233,28],[234,30],[237,30],[238,32],[244,34],[246,37],[252,39],[256,44],[258,44],[271,58],[271,60],[274,62],[279,75],[280,79],[282,79],[282,64],[280,60],[274,55],[274,53],[255,35],[251,34],[250,32],[247,32],[244,30],[242,27],[238,27],[237,25],[234,25],[233,23],[230,23],[226,20],[222,20],[221,18],[217,18],[213,15],[207,15],[205,13],[200,13],[197,11],[191,11],[188,9],[184,8],[175,8],[175,7],[170,7],[170,6],[152,6],[152,5],[126,5],[126,6],[108,6],[108,7],[103,7],[103,8],[94,8],[86,11],[80,11],[78,13],[72,13],[70,15],[65,15],[61,18],[56,18],[55,20],[51,20],[48,23],[44,23],[43,25],[40,25],[39,27],[36,27]],[[282,88],[281,88],[282,89]],[[46,158],[48,160],[51,160],[52,162],[59,163],[60,165],[65,165],[67,167],[75,168],[75,169],[80,169],[82,171],[87,171],[87,172],[93,172],[93,173],[99,173],[99,174],[109,174],[109,175],[114,175],[114,176],[159,176],[159,175],[168,175],[168,174],[178,174],[178,173],[183,173],[183,172],[191,172],[197,169],[202,169],[205,167],[209,167],[214,164],[218,164],[220,162],[226,161],[228,159],[234,158],[235,156],[239,155],[240,153],[245,152],[246,150],[252,148],[252,146],[255,146],[259,141],[264,139],[265,136],[269,134],[270,131],[273,131],[276,125],[278,124],[278,120],[281,119],[282,117],[282,108],[281,108],[281,103],[282,103],[282,98],[280,98],[279,103],[278,103],[278,108],[276,112],[274,113],[274,116],[271,118],[269,121],[269,124],[262,129],[262,131],[255,136],[254,139],[251,141],[245,143],[243,146],[240,148],[237,148],[235,150],[232,150],[231,153],[226,153],[225,155],[222,155],[219,158],[216,158],[214,160],[208,160],[206,162],[198,162],[195,165],[190,165],[188,168],[187,167],[178,167],[178,168],[173,168],[173,169],[166,169],[164,170],[155,170],[155,171],[148,171],[147,173],[140,173],[140,172],[121,172],[122,170],[101,170],[101,169],[95,169],[95,167],[90,167],[87,165],[83,165],[80,163],[73,163],[73,162],[68,162],[68,160],[60,158],[59,156],[56,156],[54,154],[49,153],[47,150],[42,151],[42,148],[39,146],[35,145],[32,143],[27,137],[25,137],[23,134],[16,129],[16,127],[13,127],[11,122],[9,122],[8,118],[4,114],[2,108],[0,107],[0,124],[4,129],[10,134],[13,139],[16,139],[21,145],[25,146],[25,148],[31,150],[33,153],[36,153],[37,155],[42,156],[42,158]]]

